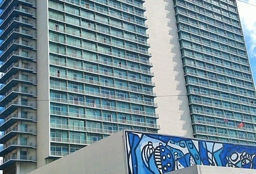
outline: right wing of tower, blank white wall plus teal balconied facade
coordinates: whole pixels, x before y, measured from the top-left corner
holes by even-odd
[[[145,7],[159,132],[255,145],[255,86],[236,1]]]

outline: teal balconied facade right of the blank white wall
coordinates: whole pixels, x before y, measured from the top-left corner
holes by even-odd
[[[256,99],[236,1],[173,1],[195,138],[256,145]]]

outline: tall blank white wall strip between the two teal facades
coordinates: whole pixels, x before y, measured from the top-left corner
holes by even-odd
[[[161,134],[193,137],[173,0],[144,3]]]

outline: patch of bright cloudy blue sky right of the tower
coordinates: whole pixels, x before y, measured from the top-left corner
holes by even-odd
[[[256,0],[237,0],[244,38],[256,84]]]

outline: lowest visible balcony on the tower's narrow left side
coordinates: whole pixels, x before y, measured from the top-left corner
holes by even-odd
[[[4,170],[15,162],[36,162],[36,157],[28,155],[10,155],[4,157],[4,159],[0,161],[0,170]]]

